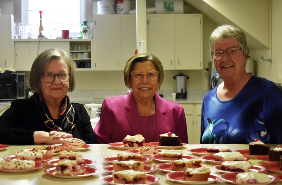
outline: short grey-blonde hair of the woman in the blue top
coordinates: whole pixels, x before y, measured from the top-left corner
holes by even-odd
[[[249,47],[247,44],[247,39],[245,33],[233,25],[222,25],[218,26],[209,37],[209,50],[214,51],[214,43],[221,40],[226,40],[228,38],[235,38],[240,44],[244,55],[249,54]]]

